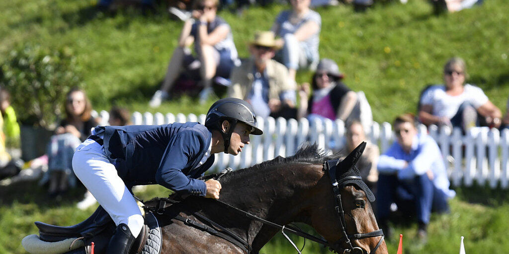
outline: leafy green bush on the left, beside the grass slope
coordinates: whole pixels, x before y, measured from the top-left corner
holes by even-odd
[[[0,84],[23,124],[48,128],[60,119],[62,102],[71,87],[82,86],[76,58],[69,48],[50,50],[23,45],[2,64]]]

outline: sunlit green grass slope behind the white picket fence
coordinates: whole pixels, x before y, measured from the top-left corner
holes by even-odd
[[[168,15],[143,16],[137,10],[115,16],[95,13],[90,1],[2,1],[0,60],[19,43],[67,46],[78,57],[96,109],[111,104],[137,111],[203,113],[189,99],[147,102],[163,79],[182,22]],[[378,5],[363,13],[350,6],[318,9],[322,15],[320,54],[336,60],[345,82],[363,90],[376,121],[414,112],[421,88],[442,82],[442,66],[451,56],[467,62],[469,81],[479,85],[501,109],[509,94],[509,23],[504,0],[459,13],[435,16],[424,0]],[[239,54],[255,29],[269,29],[283,6],[253,7],[237,16],[221,12],[232,26]],[[162,11],[162,10],[161,10]],[[299,73],[298,82],[310,74]]]

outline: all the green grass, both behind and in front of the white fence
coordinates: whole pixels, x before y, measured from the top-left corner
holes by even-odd
[[[349,6],[322,8],[320,54],[336,60],[346,74],[345,82],[363,90],[376,121],[391,121],[401,112],[414,112],[420,90],[442,82],[442,66],[451,56],[467,62],[469,81],[482,87],[490,100],[504,111],[509,96],[509,4],[485,1],[482,6],[459,13],[435,16],[424,0],[378,5],[363,13]],[[11,0],[0,1],[0,61],[20,44],[48,48],[67,47],[77,57],[79,72],[96,109],[112,103],[131,110],[173,113],[203,113],[210,105],[197,106],[191,98],[166,102],[159,109],[147,107],[159,87],[182,22],[160,14],[143,16],[137,10],[115,16],[96,13],[91,1]],[[237,16],[221,12],[232,26],[242,57],[255,29],[269,29],[284,6],[253,7]],[[299,73],[298,82],[310,74]],[[19,109],[18,109],[19,110]],[[458,189],[450,214],[433,216],[428,244],[413,239],[415,225],[395,225],[405,235],[405,253],[456,253],[465,236],[468,253],[499,253],[509,248],[506,190],[484,187]],[[142,198],[166,195],[150,187]],[[0,187],[0,253],[24,253],[20,240],[36,233],[34,220],[72,225],[95,208],[75,208],[81,193],[71,193],[54,203],[36,182]],[[298,246],[302,241],[298,240]],[[387,241],[390,253],[398,239]],[[306,253],[325,253],[306,243]],[[282,237],[276,237],[262,252],[295,253]],[[502,251],[503,252],[503,251]]]

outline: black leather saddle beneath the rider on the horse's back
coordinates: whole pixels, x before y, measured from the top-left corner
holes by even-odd
[[[142,252],[153,228],[159,230],[158,237],[160,238],[160,229],[158,226],[154,226],[157,225],[157,219],[152,213],[150,213],[150,217],[147,215],[145,216],[145,225],[131,248],[131,254]],[[103,252],[98,250],[107,248],[109,239],[115,232],[115,223],[102,206],[99,206],[89,218],[74,226],[60,227],[40,221],[36,221],[35,225],[39,228],[39,238],[43,241],[58,242],[69,238],[79,238],[84,241],[86,246],[94,242],[97,252]]]

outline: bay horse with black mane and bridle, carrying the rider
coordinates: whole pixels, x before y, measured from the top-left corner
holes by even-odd
[[[325,155],[316,144],[306,144],[294,156],[222,175],[218,200],[190,196],[176,203],[173,198],[179,195],[174,194],[146,202],[161,228],[160,253],[259,253],[276,233],[294,231],[282,226],[297,222],[323,238],[301,236],[334,252],[387,254],[371,206],[373,193],[355,166],[364,147],[341,161],[337,154]],[[110,236],[95,239],[102,242],[96,253],[104,251]]]

